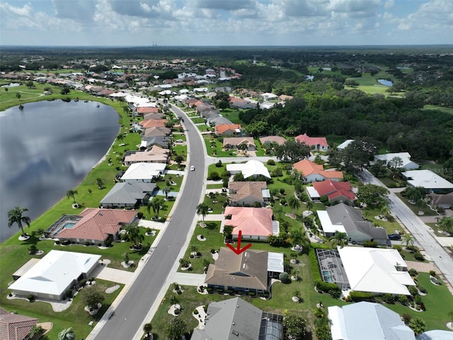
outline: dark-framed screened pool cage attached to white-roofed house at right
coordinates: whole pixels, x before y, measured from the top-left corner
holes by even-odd
[[[341,290],[350,289],[340,254],[334,249],[315,249],[319,273],[324,282],[336,283]]]

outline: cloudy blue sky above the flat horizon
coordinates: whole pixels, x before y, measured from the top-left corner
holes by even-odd
[[[0,0],[0,45],[453,43],[453,0]]]

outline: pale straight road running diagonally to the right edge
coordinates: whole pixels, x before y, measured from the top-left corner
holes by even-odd
[[[373,183],[378,186],[384,186],[381,181],[376,179],[369,171],[364,170],[360,174],[360,179],[365,183]],[[389,208],[391,212],[398,217],[403,225],[411,232],[413,237],[420,244],[421,248],[428,254],[431,261],[435,263],[437,268],[444,274],[448,281],[450,291],[453,289],[453,259],[447,251],[437,242],[432,236],[428,227],[420,218],[403,203],[403,201],[395,195],[389,194]],[[452,291],[453,294],[453,291]]]

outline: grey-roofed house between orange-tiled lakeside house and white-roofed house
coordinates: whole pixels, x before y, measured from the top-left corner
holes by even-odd
[[[155,188],[156,183],[116,183],[100,203],[103,208],[138,208],[147,202]]]

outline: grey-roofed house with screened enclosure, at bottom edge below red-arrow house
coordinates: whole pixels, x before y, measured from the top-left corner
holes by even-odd
[[[193,330],[191,340],[282,340],[283,316],[263,312],[240,297],[211,302],[205,321]]]

